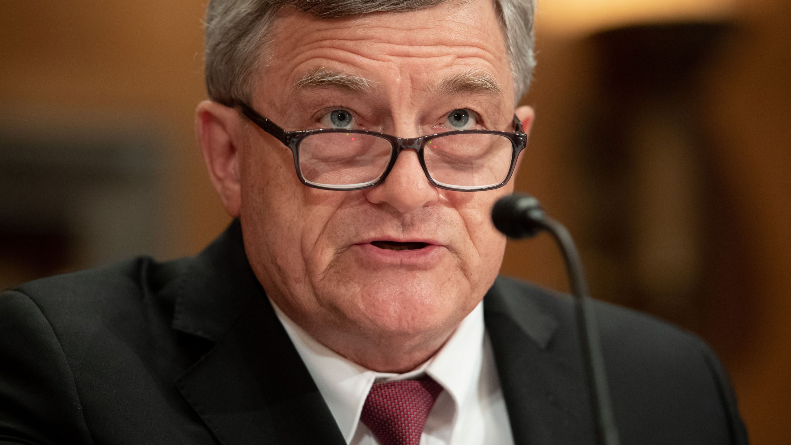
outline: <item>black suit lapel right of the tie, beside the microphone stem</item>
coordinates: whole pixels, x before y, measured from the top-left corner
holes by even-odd
[[[592,415],[576,331],[569,318],[552,314],[531,295],[539,293],[544,292],[498,279],[484,299],[486,330],[514,442],[592,444]]]

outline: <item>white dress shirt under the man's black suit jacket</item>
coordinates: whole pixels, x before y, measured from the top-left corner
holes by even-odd
[[[327,401],[346,443],[377,445],[360,421],[374,382],[427,374],[444,389],[423,428],[421,445],[512,445],[513,438],[483,325],[483,302],[475,307],[445,345],[426,363],[405,374],[376,372],[320,344],[272,302],[291,341]]]

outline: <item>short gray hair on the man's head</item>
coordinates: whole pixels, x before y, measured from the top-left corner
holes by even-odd
[[[251,80],[262,67],[261,48],[275,14],[291,6],[316,18],[361,13],[407,12],[448,0],[210,0],[206,13],[206,89],[213,101],[249,100]],[[533,51],[535,0],[494,0],[505,29],[516,101],[527,92],[536,59]]]

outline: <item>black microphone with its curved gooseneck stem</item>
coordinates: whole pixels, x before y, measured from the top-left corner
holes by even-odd
[[[509,238],[532,238],[541,231],[547,230],[558,244],[563,254],[563,261],[566,263],[571,293],[574,295],[574,312],[577,316],[582,361],[588,378],[596,443],[620,445],[618,428],[615,426],[615,416],[612,413],[610,388],[607,384],[607,372],[604,369],[595,308],[588,295],[582,261],[571,234],[560,222],[547,215],[536,198],[520,193],[504,196],[494,203],[492,222]]]

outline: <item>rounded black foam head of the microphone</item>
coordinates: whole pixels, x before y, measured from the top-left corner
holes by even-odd
[[[503,196],[492,207],[492,222],[509,238],[532,238],[544,229],[544,213],[536,198],[514,193]]]

